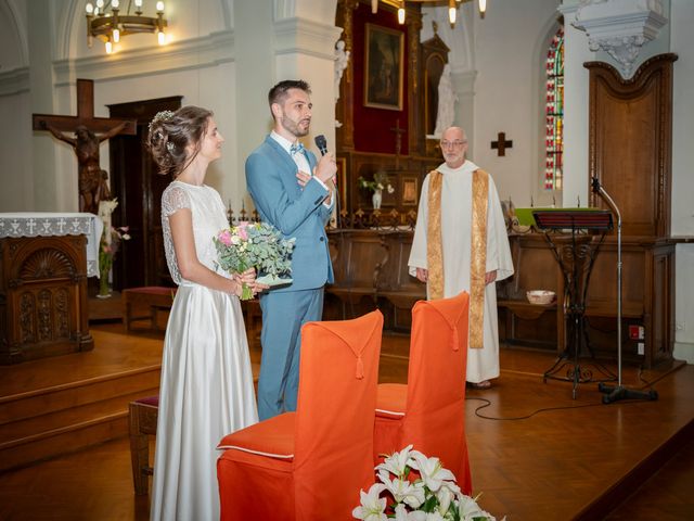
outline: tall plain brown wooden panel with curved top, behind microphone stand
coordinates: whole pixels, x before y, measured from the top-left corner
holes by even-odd
[[[590,176],[597,177],[622,217],[626,236],[670,232],[672,62],[646,61],[631,79],[590,62]],[[608,208],[596,194],[591,206]]]

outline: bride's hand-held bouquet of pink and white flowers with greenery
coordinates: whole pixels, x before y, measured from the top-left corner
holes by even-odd
[[[283,239],[282,233],[267,223],[240,223],[221,230],[214,239],[217,264],[230,274],[256,268],[256,281],[267,285],[288,284],[292,279],[292,251],[296,239]],[[284,276],[284,278],[283,278]],[[241,300],[253,298],[253,290],[243,284]]]

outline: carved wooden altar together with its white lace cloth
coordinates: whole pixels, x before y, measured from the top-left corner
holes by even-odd
[[[0,214],[0,364],[93,348],[87,277],[102,228],[92,214]]]

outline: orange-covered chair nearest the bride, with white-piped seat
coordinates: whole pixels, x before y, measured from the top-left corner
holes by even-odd
[[[296,412],[224,436],[222,520],[350,519],[374,481],[383,315],[301,328]]]

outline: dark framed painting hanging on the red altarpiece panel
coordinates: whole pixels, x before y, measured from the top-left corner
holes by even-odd
[[[367,24],[364,106],[402,110],[404,33]]]

